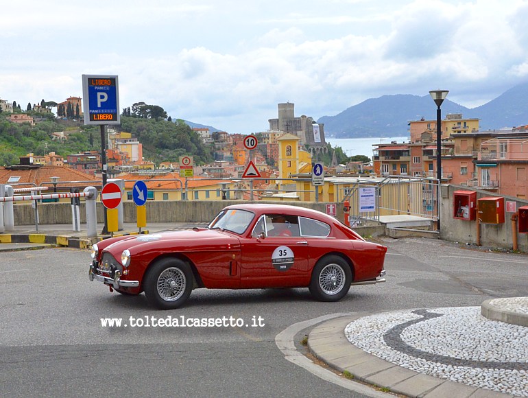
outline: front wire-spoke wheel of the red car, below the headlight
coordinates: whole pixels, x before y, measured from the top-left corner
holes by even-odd
[[[194,277],[189,264],[180,259],[163,259],[152,265],[143,287],[151,305],[158,309],[180,307],[191,295]]]

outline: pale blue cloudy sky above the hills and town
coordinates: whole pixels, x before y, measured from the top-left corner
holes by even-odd
[[[318,119],[447,89],[472,108],[528,80],[526,21],[516,0],[5,1],[0,98],[61,102],[82,74],[119,75],[121,108],[240,133],[279,102]]]

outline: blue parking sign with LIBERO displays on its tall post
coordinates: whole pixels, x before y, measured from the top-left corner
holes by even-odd
[[[117,75],[82,75],[82,95],[84,124],[101,126],[101,174],[104,189],[108,171],[106,165],[106,125],[121,124]],[[103,233],[108,232],[106,213],[105,211]]]

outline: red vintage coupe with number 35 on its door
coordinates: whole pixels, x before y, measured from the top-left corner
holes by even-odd
[[[160,309],[180,307],[194,288],[309,288],[338,301],[350,285],[385,281],[386,252],[320,211],[234,204],[206,228],[94,244],[89,278],[121,294],[145,292]]]

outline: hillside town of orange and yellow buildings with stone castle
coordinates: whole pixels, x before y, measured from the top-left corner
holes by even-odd
[[[28,104],[29,107],[30,104]],[[68,97],[56,104],[58,114],[82,117],[82,98]],[[9,113],[15,124],[36,124],[35,113],[51,113],[45,104],[34,104],[32,115],[14,113],[13,104],[0,99],[0,110]],[[106,165],[108,178],[130,181],[145,180],[150,200],[214,200],[237,198],[243,200],[343,200],[357,178],[385,178],[437,176],[437,122],[409,121],[409,141],[373,145],[372,163],[359,161],[340,164],[335,158],[324,165],[325,181],[320,192],[311,183],[312,165],[319,154],[328,152],[324,124],[312,117],[295,116],[292,103],[278,104],[278,115],[268,120],[269,129],[252,133],[258,142],[255,149],[245,148],[247,134],[211,131],[206,127],[193,128],[204,145],[214,148],[215,161],[193,163],[193,154],[186,157],[191,163],[180,161],[154,163],[143,156],[143,145],[130,132],[119,126],[108,126]],[[526,162],[528,159],[526,128],[510,130],[479,130],[479,119],[466,119],[461,114],[448,114],[442,119],[442,182],[485,189],[494,194],[526,198],[528,189]],[[400,134],[401,132],[394,132]],[[69,132],[53,132],[53,140],[67,141]],[[251,163],[251,165],[250,165]],[[254,167],[258,178],[245,178],[248,167]],[[67,190],[79,184],[101,180],[100,151],[69,154],[64,159],[55,152],[44,155],[28,153],[19,165],[3,167],[0,183],[53,186]],[[255,176],[252,176],[255,177]],[[16,180],[16,181],[15,181]],[[55,183],[52,183],[55,181]],[[130,185],[130,187],[128,187]],[[130,200],[131,194],[128,194]]]

